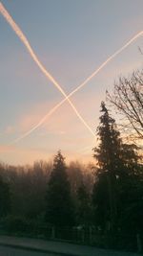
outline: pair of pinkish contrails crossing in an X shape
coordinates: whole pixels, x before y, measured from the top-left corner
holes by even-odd
[[[24,45],[26,46],[27,50],[29,51],[31,58],[35,61],[35,63],[38,65],[38,67],[40,68],[40,70],[43,72],[43,74],[55,85],[55,87],[57,87],[57,89],[62,93],[62,95],[65,97],[64,100],[62,100],[59,104],[55,105],[54,107],[51,108],[51,110],[40,120],[40,122],[34,126],[33,128],[31,128],[29,131],[27,131],[26,133],[24,133],[21,137],[17,138],[16,140],[14,140],[11,144],[14,144],[18,141],[20,141],[21,139],[27,137],[29,134],[31,134],[31,132],[40,127],[45,120],[51,116],[51,114],[60,106],[63,105],[66,101],[69,102],[69,104],[72,106],[72,109],[74,110],[76,116],[80,119],[80,121],[84,124],[84,126],[86,128],[89,129],[89,131],[92,133],[93,137],[95,137],[94,132],[92,131],[92,128],[89,127],[89,125],[87,124],[87,122],[83,119],[83,117],[80,115],[80,113],[77,111],[77,109],[75,108],[75,106],[72,104],[72,101],[70,100],[70,98],[72,97],[72,95],[77,92],[79,89],[81,89],[83,86],[85,86],[89,81],[92,80],[92,78],[97,75],[97,73],[105,66],[107,65],[112,58],[115,58],[118,54],[120,54],[123,50],[125,50],[131,43],[133,43],[133,41],[138,38],[139,36],[143,35],[143,31],[139,32],[138,34],[134,35],[132,39],[130,39],[126,44],[124,44],[120,49],[118,49],[114,54],[112,54],[111,57],[107,58],[93,73],[92,75],[86,79],[85,81],[83,81],[79,86],[77,86],[69,95],[67,95],[65,93],[65,91],[62,89],[62,87],[60,86],[60,84],[55,81],[55,79],[51,76],[51,74],[46,70],[46,68],[44,67],[44,65],[40,62],[40,60],[37,58],[36,54],[34,53],[34,51],[31,48],[31,44],[29,42],[29,40],[27,39],[26,35],[23,34],[23,32],[21,31],[21,29],[19,28],[19,26],[15,23],[15,21],[12,19],[12,17],[10,16],[10,13],[6,10],[6,8],[2,5],[2,3],[0,2],[0,12],[2,13],[2,15],[5,17],[5,19],[8,21],[8,23],[10,24],[10,27],[12,28],[12,30],[15,32],[15,34],[21,39],[21,41],[24,43]]]

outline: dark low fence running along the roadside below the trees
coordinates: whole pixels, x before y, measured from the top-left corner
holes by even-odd
[[[1,234],[18,235],[47,240],[65,241],[75,244],[94,245],[125,251],[142,251],[143,234],[124,234],[97,231],[94,227],[51,227],[41,222],[6,221],[1,224]]]

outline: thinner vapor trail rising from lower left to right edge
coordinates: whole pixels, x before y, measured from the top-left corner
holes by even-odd
[[[16,139],[14,141],[14,143],[20,141],[21,139],[27,137],[28,135],[31,134],[31,132],[36,129],[36,128],[39,128],[46,120],[48,117],[51,116],[51,114],[53,112],[56,111],[56,109],[60,106],[60,105],[63,105],[67,99],[69,99],[70,97],[72,97],[72,95],[77,92],[79,89],[81,89],[83,86],[85,86],[89,81],[92,80],[92,78],[97,75],[99,73],[99,71],[101,69],[103,69],[113,58],[115,58],[117,55],[119,55],[122,51],[124,51],[130,44],[133,43],[133,41],[135,39],[137,39],[138,37],[140,37],[141,35],[143,35],[143,31],[137,33],[136,35],[134,35],[132,37],[132,39],[130,39],[126,44],[124,44],[121,48],[119,48],[116,52],[114,52],[114,54],[112,54],[111,57],[107,58],[93,73],[90,77],[88,77],[85,81],[83,81],[79,86],[77,86],[64,100],[62,100],[60,103],[58,103],[57,105],[53,106],[53,108],[51,108],[51,110],[39,121],[39,123],[31,128],[29,131],[27,131],[25,134],[23,134],[20,138]]]

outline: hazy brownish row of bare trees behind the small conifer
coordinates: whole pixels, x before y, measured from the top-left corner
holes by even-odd
[[[0,217],[11,215],[29,220],[37,218],[44,220],[48,184],[51,182],[53,170],[54,160],[53,163],[41,160],[35,162],[33,166],[17,167],[1,163]],[[71,162],[67,167],[65,165],[64,170],[70,183],[73,200],[76,198],[76,191],[81,184],[84,184],[88,193],[91,193],[93,174],[90,165]],[[59,183],[62,181],[59,178]]]

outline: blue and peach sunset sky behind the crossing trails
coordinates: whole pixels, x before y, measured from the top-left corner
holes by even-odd
[[[85,81],[116,50],[143,30],[142,0],[2,0],[35,54],[66,94]],[[72,104],[94,134],[106,89],[142,67],[143,36],[112,59]],[[23,137],[64,96],[31,58],[0,13],[0,161],[31,164],[59,149],[66,159],[92,161],[96,138],[68,102]],[[18,139],[18,140],[17,140]]]

